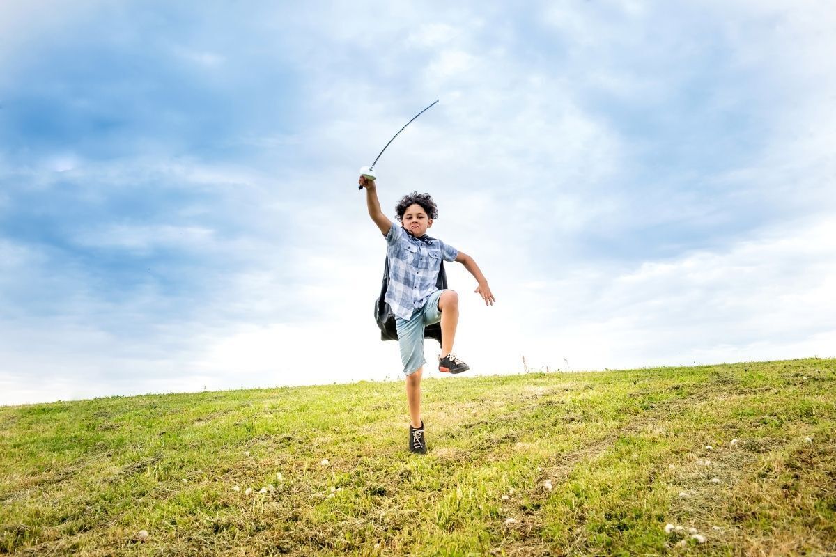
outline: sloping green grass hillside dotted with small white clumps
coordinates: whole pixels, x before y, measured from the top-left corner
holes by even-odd
[[[0,408],[0,553],[836,554],[836,360],[423,389],[422,457],[402,382]]]

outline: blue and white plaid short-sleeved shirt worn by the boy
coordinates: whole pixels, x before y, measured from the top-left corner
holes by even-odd
[[[441,260],[456,261],[459,251],[441,240],[429,243],[409,235],[399,223],[393,222],[386,235],[386,257],[389,258],[389,288],[385,302],[392,313],[409,319],[412,312],[426,304],[438,289],[436,279]]]

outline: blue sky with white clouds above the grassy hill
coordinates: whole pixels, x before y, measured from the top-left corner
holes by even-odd
[[[356,184],[435,99],[375,170],[496,296],[447,266],[470,374],[834,357],[833,28],[830,0],[3,0],[0,404],[402,380]]]

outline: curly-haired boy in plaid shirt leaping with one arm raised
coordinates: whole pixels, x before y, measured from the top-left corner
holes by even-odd
[[[477,280],[475,290],[485,305],[496,301],[485,276],[471,256],[430,238],[426,230],[437,216],[436,202],[428,194],[405,195],[395,213],[400,225],[386,218],[380,210],[375,180],[360,176],[366,189],[366,205],[371,220],[385,236],[389,265],[389,287],[385,301],[395,314],[400,345],[400,359],[406,376],[406,398],[410,406],[410,452],[426,453],[424,421],[421,419],[421,374],[424,371],[424,327],[441,322],[441,357],[438,371],[461,373],[470,369],[456,357],[453,340],[459,322],[459,296],[452,290],[438,290],[436,278],[444,261],[458,261]]]

